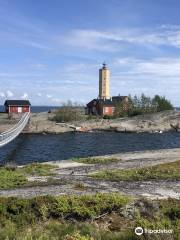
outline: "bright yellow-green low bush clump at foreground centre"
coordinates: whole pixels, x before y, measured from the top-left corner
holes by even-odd
[[[111,212],[128,202],[128,198],[119,194],[96,194],[83,196],[57,197],[56,214],[59,216],[88,219]]]

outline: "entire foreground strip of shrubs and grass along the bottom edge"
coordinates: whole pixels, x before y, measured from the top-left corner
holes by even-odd
[[[137,237],[136,226],[173,229],[173,234]],[[174,240],[179,237],[180,201],[175,199],[133,200],[120,194],[0,197],[0,239]]]

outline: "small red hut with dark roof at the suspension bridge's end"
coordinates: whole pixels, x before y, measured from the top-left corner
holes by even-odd
[[[25,113],[31,111],[28,100],[6,100],[4,103],[6,113]]]

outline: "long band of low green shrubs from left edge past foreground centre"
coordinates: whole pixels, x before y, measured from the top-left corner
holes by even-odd
[[[119,194],[0,198],[0,217],[24,225],[50,218],[88,219],[121,208],[129,199]],[[1,219],[0,219],[1,220]],[[23,220],[23,221],[22,221]]]

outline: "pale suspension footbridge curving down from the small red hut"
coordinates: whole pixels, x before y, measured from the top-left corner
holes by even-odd
[[[30,112],[24,113],[19,122],[11,129],[0,134],[0,147],[14,140],[25,128],[30,118]]]

